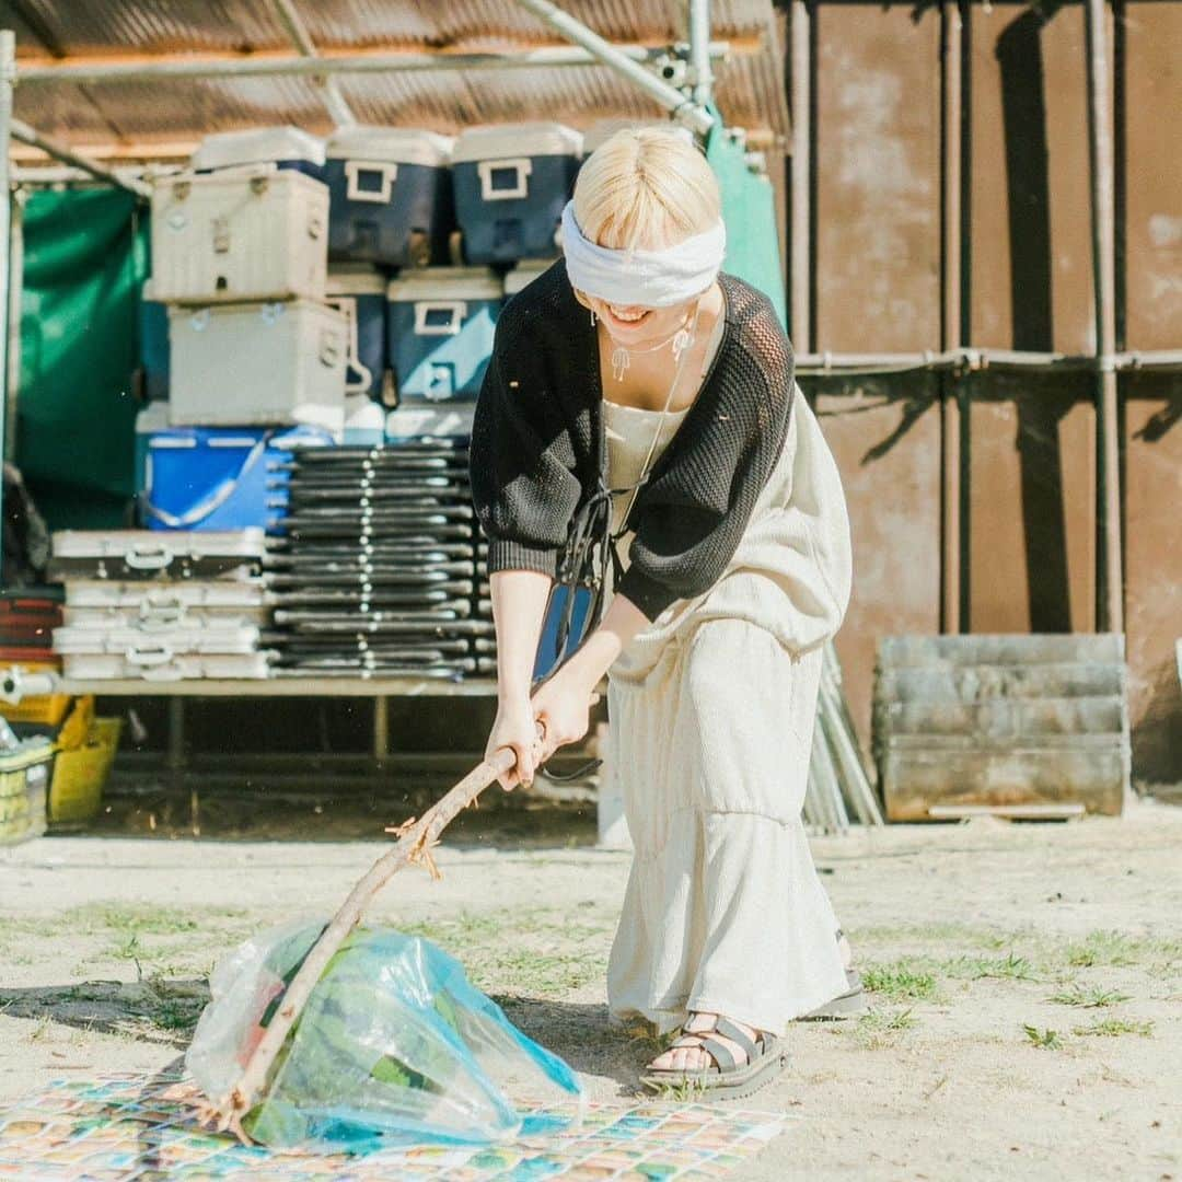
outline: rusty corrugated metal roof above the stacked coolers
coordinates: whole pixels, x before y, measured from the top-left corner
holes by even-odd
[[[313,41],[350,50],[512,51],[556,44],[515,0],[296,0]],[[564,8],[609,40],[664,45],[686,35],[682,0],[566,0]],[[742,53],[716,63],[727,122],[756,136],[787,135],[782,60],[771,0],[716,0],[715,40],[741,39]],[[0,26],[14,28],[20,59],[48,56],[154,56],[287,51],[260,0],[0,0]],[[537,118],[586,128],[603,118],[652,118],[660,108],[604,66],[439,70],[342,74],[358,119],[454,134],[472,123]],[[17,87],[17,112],[76,147],[184,143],[208,131],[294,123],[325,131],[319,89],[305,78],[239,78]]]

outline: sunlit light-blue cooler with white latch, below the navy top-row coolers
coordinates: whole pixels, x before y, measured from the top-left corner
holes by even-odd
[[[433,267],[390,281],[387,333],[398,404],[475,398],[505,286],[482,267]]]

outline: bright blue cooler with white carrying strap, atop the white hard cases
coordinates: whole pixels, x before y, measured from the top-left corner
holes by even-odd
[[[316,427],[161,427],[152,410],[136,422],[143,475],[139,504],[150,530],[274,531],[299,447],[335,442]]]

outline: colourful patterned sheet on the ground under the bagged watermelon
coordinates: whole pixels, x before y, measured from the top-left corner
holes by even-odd
[[[177,1074],[64,1080],[0,1111],[0,1178],[21,1182],[265,1182],[286,1178],[716,1178],[782,1130],[780,1112],[728,1105],[590,1104],[582,1128],[509,1145],[275,1154],[197,1128],[197,1090]]]

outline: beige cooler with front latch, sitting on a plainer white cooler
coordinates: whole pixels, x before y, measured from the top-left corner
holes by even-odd
[[[156,182],[152,297],[167,304],[323,299],[329,188],[275,164]]]

